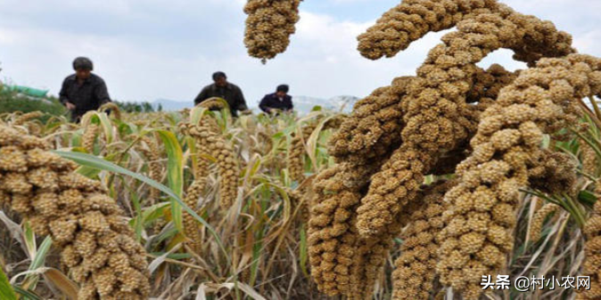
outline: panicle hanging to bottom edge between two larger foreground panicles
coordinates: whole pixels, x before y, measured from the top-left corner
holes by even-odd
[[[408,228],[403,231],[401,254],[392,272],[394,299],[428,299],[436,278],[436,263],[444,227],[442,214],[447,209],[445,192],[457,182],[434,182],[421,193],[420,207],[408,217]]]

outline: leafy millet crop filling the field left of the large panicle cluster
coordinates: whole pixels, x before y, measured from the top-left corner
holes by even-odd
[[[340,115],[233,119],[218,99],[181,113],[119,115],[111,107],[107,115],[104,109],[89,112],[79,125],[66,118],[41,123],[42,112],[0,118],[0,202],[22,223],[19,231],[36,233],[23,247],[42,262],[27,276],[20,275],[28,272],[26,264],[8,269],[15,287],[40,297],[81,299],[317,296],[301,258],[306,240],[297,240],[306,234],[309,206],[302,195],[309,186],[292,181],[287,158],[303,162],[297,166],[303,176],[324,168],[325,142]],[[294,133],[306,127],[312,138],[298,139]],[[66,153],[77,154],[67,158],[78,164],[59,156]],[[0,231],[10,245],[17,242],[9,236],[15,230]],[[56,261],[37,249],[36,237],[46,235],[59,250]],[[29,254],[2,252],[9,264]],[[296,271],[290,264],[298,265]],[[48,286],[37,283],[42,275]],[[269,291],[289,282],[305,288]],[[190,288],[182,290],[183,283]],[[242,289],[226,288],[231,283]],[[199,292],[202,285],[210,288]],[[54,286],[59,288],[46,288]]]

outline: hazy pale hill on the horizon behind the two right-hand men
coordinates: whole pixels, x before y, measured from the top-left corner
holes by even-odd
[[[358,97],[355,96],[336,96],[330,99],[309,97],[309,96],[293,96],[292,101],[294,101],[294,109],[299,111],[301,115],[309,113],[311,109],[315,106],[321,106],[325,109],[332,110],[342,110],[344,112],[349,112],[355,102],[359,100]],[[248,103],[251,106],[251,109],[258,112],[259,111],[259,103]],[[157,99],[152,102],[152,107],[154,109],[158,109],[159,105],[161,105],[164,111],[175,111],[181,109],[192,109],[193,103],[192,101],[175,101],[169,99]]]

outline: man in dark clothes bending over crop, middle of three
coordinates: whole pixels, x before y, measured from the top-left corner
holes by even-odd
[[[196,99],[194,99],[195,105],[212,97],[219,97],[227,101],[233,117],[238,116],[238,110],[242,111],[243,114],[250,113],[246,101],[244,101],[242,90],[238,85],[227,82],[226,73],[213,73],[213,81],[214,84],[205,86],[201,93],[196,96]]]

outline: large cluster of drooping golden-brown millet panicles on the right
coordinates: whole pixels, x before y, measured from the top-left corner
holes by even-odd
[[[359,101],[329,142],[336,165],[313,182],[309,219],[312,277],[329,296],[371,298],[392,238],[409,223],[393,297],[435,296],[431,281],[437,278],[477,299],[491,293],[483,290],[482,276],[507,270],[518,211],[529,200],[523,191],[578,197],[577,165],[556,145],[578,118],[593,118],[581,99],[601,93],[601,60],[575,54],[572,37],[550,21],[493,0],[403,1],[358,36],[358,50],[372,60],[392,57],[428,32],[449,28],[456,30],[441,38],[415,77],[399,77]],[[501,48],[529,69],[477,66]],[[596,172],[590,147],[598,145],[573,132],[588,143],[582,147],[586,170]],[[444,174],[455,174],[457,184],[440,204],[440,226],[427,231],[414,224],[424,212],[413,209],[428,210],[426,176]],[[537,213],[533,241],[545,216],[559,207],[550,203]],[[579,205],[563,207],[580,227],[595,227],[594,217],[584,225]],[[414,226],[421,244],[411,235]],[[433,240],[430,251],[413,248]],[[592,289],[581,296],[601,294]]]

